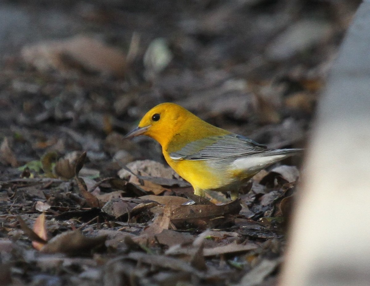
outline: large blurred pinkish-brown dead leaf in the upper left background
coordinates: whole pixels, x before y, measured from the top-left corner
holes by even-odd
[[[21,53],[27,63],[41,71],[68,71],[74,67],[118,76],[126,71],[126,57],[121,50],[82,35],[26,46]]]

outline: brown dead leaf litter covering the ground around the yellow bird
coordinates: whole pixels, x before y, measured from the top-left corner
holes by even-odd
[[[0,4],[20,17],[5,34],[24,40],[0,44],[1,282],[276,285],[299,159],[215,205],[158,144],[122,134],[172,101],[269,147],[304,147],[359,1],[41,2]],[[20,15],[34,23],[17,30]]]

